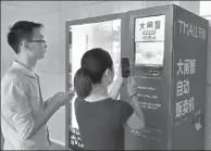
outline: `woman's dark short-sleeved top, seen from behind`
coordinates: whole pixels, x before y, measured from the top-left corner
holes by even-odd
[[[75,103],[85,150],[124,149],[123,124],[133,113],[129,104],[111,98],[96,102],[77,98]]]

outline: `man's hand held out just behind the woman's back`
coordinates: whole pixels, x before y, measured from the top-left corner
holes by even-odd
[[[57,92],[55,95],[53,95],[53,97],[51,98],[51,100],[52,100],[52,102],[57,103],[59,106],[63,106],[63,105],[70,103],[70,101],[75,96],[74,92],[75,91]]]

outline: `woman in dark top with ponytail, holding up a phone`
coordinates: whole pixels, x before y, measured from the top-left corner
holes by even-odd
[[[82,67],[74,77],[77,93],[75,101],[76,118],[85,150],[123,150],[123,125],[135,111],[144,123],[138,104],[135,81],[131,77],[127,84],[129,101],[114,100],[123,84],[121,70],[116,85],[108,93],[113,80],[113,62],[110,54],[100,49],[87,51],[80,62]],[[113,98],[113,99],[112,99]]]

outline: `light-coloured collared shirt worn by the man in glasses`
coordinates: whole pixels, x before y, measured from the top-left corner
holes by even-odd
[[[1,79],[1,130],[4,150],[49,150],[47,125],[33,137],[35,121],[42,116],[45,105],[39,77],[14,61]]]

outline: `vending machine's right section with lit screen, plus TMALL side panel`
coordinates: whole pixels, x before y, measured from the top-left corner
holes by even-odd
[[[177,5],[128,16],[146,128],[125,126],[125,149],[203,150],[208,21]]]

